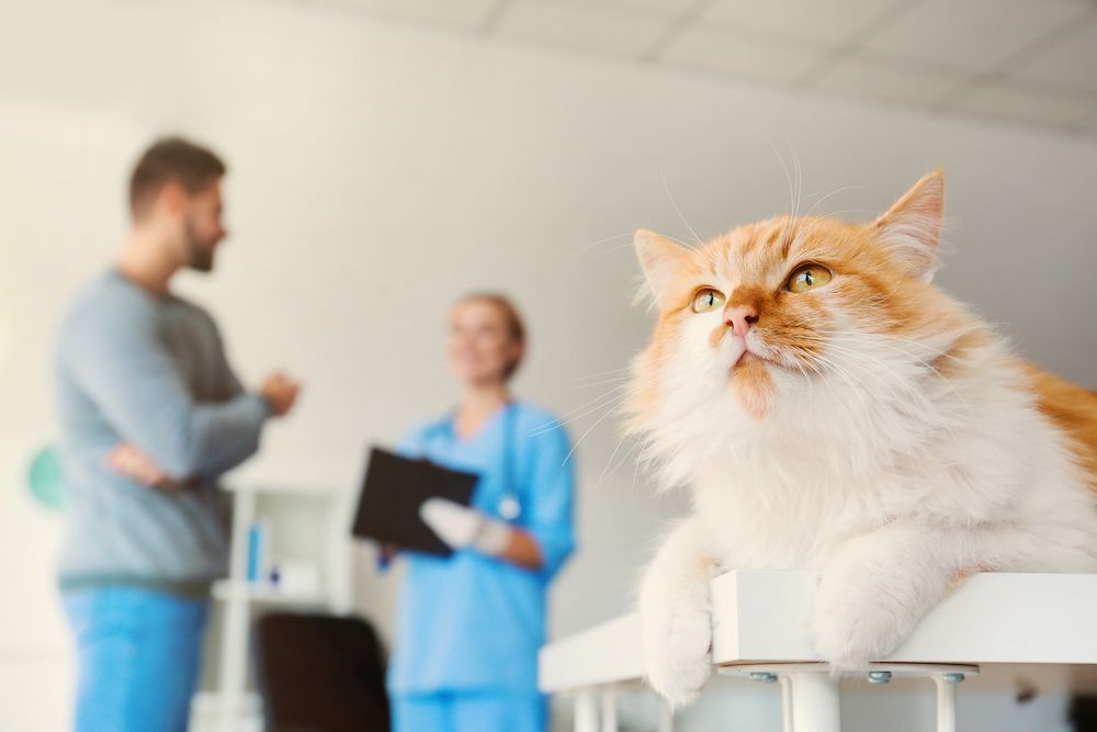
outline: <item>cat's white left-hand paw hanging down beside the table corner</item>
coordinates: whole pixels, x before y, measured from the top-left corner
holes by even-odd
[[[712,609],[706,592],[652,584],[645,583],[640,605],[647,679],[671,707],[681,707],[697,699],[711,674]]]

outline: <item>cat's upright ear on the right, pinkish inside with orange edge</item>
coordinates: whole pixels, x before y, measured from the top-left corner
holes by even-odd
[[[937,244],[945,212],[945,172],[938,168],[903,194],[877,219],[881,244],[906,273],[929,282],[937,264]]]

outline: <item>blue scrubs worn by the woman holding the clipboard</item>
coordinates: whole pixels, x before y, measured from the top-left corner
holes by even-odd
[[[473,506],[528,531],[544,567],[524,570],[475,550],[449,559],[404,554],[388,674],[396,732],[545,729],[538,650],[545,590],[575,544],[569,451],[556,418],[525,404],[500,408],[468,440],[452,416],[403,440],[406,455],[479,474]]]

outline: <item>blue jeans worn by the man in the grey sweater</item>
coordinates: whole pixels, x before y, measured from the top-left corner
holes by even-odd
[[[131,587],[64,593],[76,633],[76,732],[185,732],[208,603]]]

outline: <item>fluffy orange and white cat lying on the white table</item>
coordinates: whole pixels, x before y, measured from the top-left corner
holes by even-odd
[[[658,323],[630,429],[688,484],[640,592],[653,687],[710,673],[709,581],[821,570],[836,669],[893,651],[973,571],[1097,572],[1097,394],[1015,357],[930,284],[945,180],[871,224],[781,217],[635,246]]]

